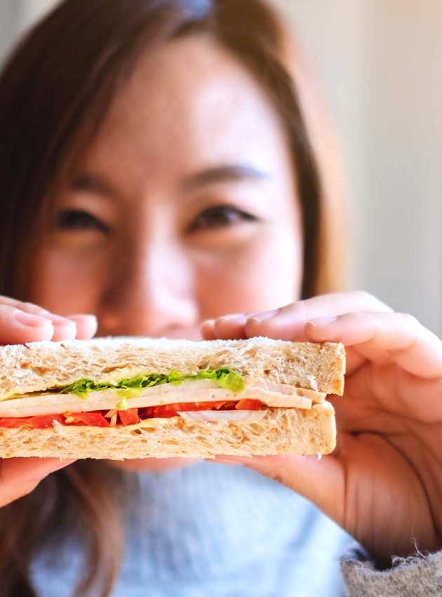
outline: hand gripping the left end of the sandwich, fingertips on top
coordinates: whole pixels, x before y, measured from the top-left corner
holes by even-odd
[[[96,329],[93,315],[59,317],[32,303],[0,296],[0,344],[89,339]],[[0,507],[32,492],[46,475],[71,462],[58,458],[0,459]]]

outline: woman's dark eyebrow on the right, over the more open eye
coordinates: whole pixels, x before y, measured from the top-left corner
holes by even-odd
[[[265,181],[269,175],[248,164],[225,164],[214,166],[192,174],[182,182],[185,191],[215,183],[236,183],[242,181]]]

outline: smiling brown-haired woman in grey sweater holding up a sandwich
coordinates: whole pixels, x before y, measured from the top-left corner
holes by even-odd
[[[380,568],[441,548],[441,342],[369,295],[316,296],[340,263],[333,197],[285,55],[259,0],[67,0],[8,61],[3,343],[93,336],[72,313],[99,334],[206,320],[207,338],[344,341],[349,372],[321,461],[3,461],[2,595],[340,594],[347,535],[291,490]],[[415,576],[436,586],[440,560]],[[356,565],[350,594],[378,594]]]

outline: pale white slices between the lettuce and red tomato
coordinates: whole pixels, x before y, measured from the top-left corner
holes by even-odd
[[[161,386],[145,388],[135,398],[128,398],[127,405],[129,408],[142,408],[175,402],[217,402],[250,398],[261,400],[268,407],[310,409],[312,402],[323,402],[325,396],[312,390],[295,388],[287,384],[269,384],[255,379],[250,380],[250,384],[242,392],[234,393],[220,388],[210,379],[199,379],[184,381],[179,385],[164,383]],[[34,393],[22,398],[1,401],[0,417],[109,410],[116,408],[122,398],[123,393],[116,390],[91,392],[84,400],[76,394]]]

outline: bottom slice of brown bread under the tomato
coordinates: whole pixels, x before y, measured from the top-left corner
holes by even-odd
[[[0,428],[0,457],[136,459],[328,454],[335,447],[330,402],[312,409],[270,408],[253,423],[191,422],[180,416],[116,427]]]

